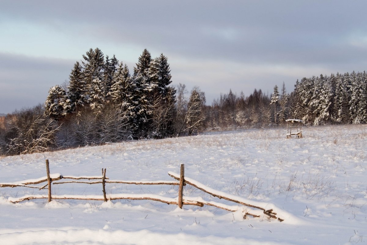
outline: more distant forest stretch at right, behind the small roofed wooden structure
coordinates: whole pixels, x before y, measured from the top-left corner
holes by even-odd
[[[255,89],[245,97],[230,90],[206,108],[206,125],[214,130],[284,126],[286,119],[305,125],[367,123],[366,72],[302,78],[290,94],[284,83],[270,95]]]

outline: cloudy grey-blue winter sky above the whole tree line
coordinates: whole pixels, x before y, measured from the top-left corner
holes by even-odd
[[[364,71],[367,1],[0,0],[0,113],[33,107],[100,48],[133,67],[163,53],[173,84],[220,93]]]

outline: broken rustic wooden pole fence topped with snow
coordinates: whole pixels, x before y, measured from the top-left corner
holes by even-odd
[[[183,197],[183,187],[186,184],[189,184],[203,192],[206,192],[213,197],[217,197],[219,199],[225,199],[227,201],[235,202],[237,204],[243,205],[246,209],[243,209],[244,218],[247,215],[252,217],[260,217],[261,214],[265,214],[269,219],[277,219],[279,221],[283,221],[277,216],[277,213],[274,212],[273,209],[266,210],[262,208],[259,204],[250,204],[247,199],[237,197],[235,195],[227,194],[222,191],[214,190],[210,187],[207,187],[201,184],[198,181],[185,177],[185,165],[181,164],[180,174],[168,172],[168,175],[174,178],[177,181],[119,181],[119,180],[109,180],[106,177],[106,169],[102,168],[102,176],[62,176],[61,174],[50,174],[50,164],[48,159],[46,159],[46,173],[47,177],[42,177],[35,180],[26,180],[22,182],[16,183],[0,183],[0,187],[29,187],[29,188],[37,188],[39,190],[48,189],[48,195],[28,195],[20,198],[8,198],[10,202],[17,203],[30,199],[46,199],[48,198],[48,202],[51,202],[52,199],[78,199],[78,200],[95,200],[95,201],[112,201],[117,199],[130,199],[130,200],[152,200],[159,201],[167,204],[175,204],[178,205],[179,208],[182,209],[183,205],[196,205],[196,206],[214,206],[217,208],[225,209],[231,212],[236,212],[241,206],[230,206],[223,203],[218,203],[214,201],[206,201],[203,198],[195,197]],[[62,181],[61,179],[72,179],[70,181]],[[89,180],[89,181],[80,181],[80,180]],[[97,180],[97,181],[90,181]],[[40,184],[46,182],[46,185],[43,186],[32,186],[36,184]],[[56,182],[58,181],[58,182]],[[51,183],[52,184],[66,184],[66,183],[83,183],[83,184],[102,184],[102,192],[103,196],[96,195],[51,195]],[[168,198],[161,195],[154,194],[106,194],[106,183],[116,183],[116,184],[136,184],[136,185],[178,185],[178,197],[177,198]],[[263,203],[261,203],[263,204]],[[250,213],[251,212],[251,213]]]

